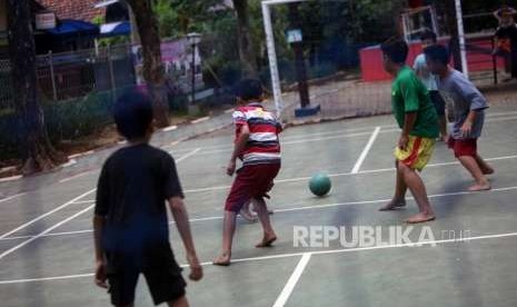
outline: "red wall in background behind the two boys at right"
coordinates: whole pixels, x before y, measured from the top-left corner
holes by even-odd
[[[445,42],[441,42],[445,43]],[[491,43],[487,39],[469,40],[469,44],[475,44],[490,52]],[[412,67],[415,59],[421,53],[421,44],[412,43],[409,46],[409,56],[407,63]],[[389,80],[391,77],[382,68],[382,52],[380,46],[368,47],[359,51],[362,81],[384,81]],[[467,61],[469,71],[484,71],[491,70],[493,62],[489,53],[481,55],[475,51],[467,52]],[[499,68],[504,67],[503,60],[499,58],[497,61]]]

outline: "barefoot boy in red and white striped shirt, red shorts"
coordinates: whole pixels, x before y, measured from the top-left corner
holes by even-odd
[[[260,81],[242,80],[238,86],[237,97],[239,106],[233,112],[236,141],[227,174],[232,176],[236,172],[237,159],[242,160],[242,168],[237,170],[237,177],[226,201],[222,254],[213,260],[213,264],[218,266],[230,265],[236,217],[242,206],[250,200],[253,201],[264,229],[262,240],[256,247],[269,247],[277,239],[269,220],[265,198],[280,171],[281,155],[278,135],[281,132],[281,125],[275,115],[267,111],[260,103],[262,100]]]

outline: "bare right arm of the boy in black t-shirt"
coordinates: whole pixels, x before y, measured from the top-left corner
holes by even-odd
[[[199,264],[196,248],[193,246],[192,234],[190,231],[189,217],[185,208],[183,199],[181,197],[169,198],[169,208],[176,221],[176,227],[183,241],[185,250],[187,251],[187,260],[190,265],[190,279],[199,280],[202,278],[202,267]]]

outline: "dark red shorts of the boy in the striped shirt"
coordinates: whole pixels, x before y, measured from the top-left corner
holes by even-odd
[[[280,164],[245,166],[237,171],[225,210],[238,212],[250,199],[262,199],[271,190]]]

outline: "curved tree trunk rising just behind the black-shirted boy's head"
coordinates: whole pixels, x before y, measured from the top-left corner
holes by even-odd
[[[169,126],[169,103],[163,63],[161,61],[161,40],[158,20],[150,0],[128,0],[135,13],[138,33],[142,44],[143,79],[153,103],[156,126]]]

